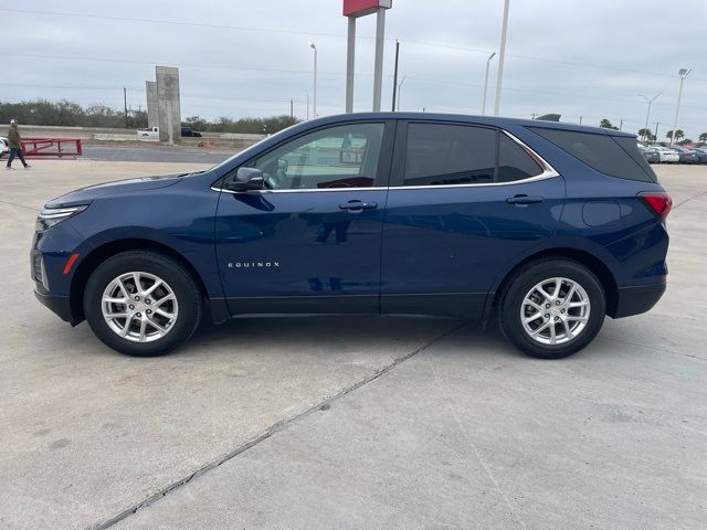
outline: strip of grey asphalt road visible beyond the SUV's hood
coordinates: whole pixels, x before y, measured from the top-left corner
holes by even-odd
[[[84,146],[84,158],[110,162],[218,163],[235,150],[207,150],[191,147]]]

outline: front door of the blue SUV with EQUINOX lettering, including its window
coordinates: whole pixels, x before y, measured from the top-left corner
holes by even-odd
[[[217,258],[239,314],[377,314],[392,123],[306,132],[244,166],[262,191],[221,191]]]

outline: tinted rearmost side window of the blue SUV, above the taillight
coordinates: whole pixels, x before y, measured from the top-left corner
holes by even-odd
[[[635,138],[535,127],[532,130],[597,171],[620,179],[657,181]]]

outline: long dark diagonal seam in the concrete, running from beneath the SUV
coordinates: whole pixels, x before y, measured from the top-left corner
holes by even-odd
[[[390,364],[386,364],[384,367],[382,367],[381,369],[379,369],[379,370],[374,371],[373,373],[367,375],[366,378],[355,382],[354,384],[350,384],[349,386],[345,386],[344,389],[339,390],[338,392],[336,392],[335,394],[333,394],[333,395],[330,395],[328,398],[325,398],[324,400],[321,400],[320,402],[318,402],[314,406],[310,406],[309,409],[307,409],[307,410],[305,410],[305,411],[303,411],[303,412],[300,412],[300,413],[298,413],[298,414],[296,414],[296,415],[294,415],[292,417],[284,418],[284,420],[281,420],[278,422],[275,422],[270,427],[267,427],[265,431],[263,431],[261,434],[258,434],[257,436],[251,438],[250,441],[245,442],[244,444],[238,446],[233,451],[226,453],[225,455],[221,455],[220,457],[207,463],[205,465],[201,466],[200,468],[198,468],[193,473],[187,475],[183,478],[180,478],[180,479],[171,483],[169,486],[167,486],[167,487],[160,489],[159,491],[148,496],[146,499],[143,499],[141,501],[134,504],[129,508],[126,508],[125,510],[116,513],[115,516],[109,517],[105,521],[89,524],[88,527],[86,527],[86,530],[106,530],[106,529],[117,524],[118,522],[123,521],[124,519],[126,519],[126,518],[133,516],[134,513],[136,513],[138,510],[141,510],[143,508],[147,508],[148,506],[152,505],[154,502],[157,502],[159,499],[166,497],[171,491],[175,491],[176,489],[189,484],[193,478],[197,478],[197,477],[210,471],[211,469],[214,469],[214,468],[221,466],[222,464],[224,464],[224,463],[235,458],[236,456],[245,453],[247,449],[256,446],[261,442],[264,442],[265,439],[270,438],[272,435],[277,434],[278,432],[284,430],[286,426],[288,426],[288,425],[291,425],[291,424],[293,424],[293,423],[295,423],[295,422],[308,416],[309,414],[312,414],[314,412],[317,412],[318,410],[321,409],[323,405],[328,404],[330,402],[334,402],[334,401],[338,400],[339,398],[342,398],[342,396],[345,396],[345,395],[347,395],[347,394],[360,389],[361,386],[370,383],[371,381],[377,380],[381,375],[387,374],[388,372],[390,372],[395,367],[402,364],[403,362],[405,362],[409,359],[413,358],[418,353],[426,350],[428,348],[430,348],[435,342],[439,342],[440,340],[443,340],[443,339],[450,337],[451,335],[454,335],[455,332],[460,331],[461,329],[465,328],[466,326],[468,326],[468,322],[464,321],[464,324],[462,324],[460,326],[455,326],[452,329],[449,329],[449,330],[444,331],[443,333],[432,338],[428,342],[425,342],[422,346],[418,347],[413,351],[411,351],[409,353],[404,353],[403,356],[397,357],[395,359],[393,359],[393,361]]]

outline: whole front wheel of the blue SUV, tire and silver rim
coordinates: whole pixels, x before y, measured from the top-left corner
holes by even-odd
[[[201,294],[176,259],[155,252],[124,252],[93,272],[84,311],[106,346],[129,356],[158,356],[192,336],[201,320]]]

